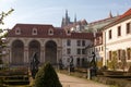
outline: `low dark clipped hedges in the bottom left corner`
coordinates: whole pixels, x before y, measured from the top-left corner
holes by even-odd
[[[29,85],[28,72],[26,70],[5,71],[0,75],[0,79],[3,79],[2,83],[5,87],[23,87],[24,85]]]

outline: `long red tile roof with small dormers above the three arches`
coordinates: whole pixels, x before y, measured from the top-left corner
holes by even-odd
[[[16,28],[21,29],[21,35],[15,34]],[[33,28],[37,28],[37,35],[32,35]],[[48,35],[48,29],[53,29],[53,35]],[[71,33],[67,35],[66,30],[52,25],[40,24],[16,24],[8,34],[8,37],[26,37],[26,38],[74,38],[74,39],[93,39],[91,33]]]

